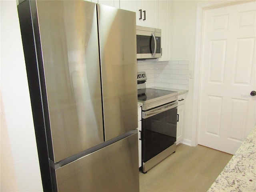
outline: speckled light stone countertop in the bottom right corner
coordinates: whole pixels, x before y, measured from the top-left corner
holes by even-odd
[[[256,191],[256,126],[208,192]]]

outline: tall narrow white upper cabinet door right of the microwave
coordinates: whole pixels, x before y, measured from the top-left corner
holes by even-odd
[[[158,28],[162,30],[162,57],[158,61],[170,60],[170,5],[168,0],[158,1]]]

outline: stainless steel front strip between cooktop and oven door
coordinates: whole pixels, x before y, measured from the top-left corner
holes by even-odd
[[[166,95],[166,96],[162,96],[162,97],[158,97],[158,98],[154,98],[152,100],[146,100],[146,101],[138,100],[138,102],[143,104],[142,110],[149,110],[157,106],[178,100],[178,93],[175,93],[175,94],[177,95],[175,96]]]

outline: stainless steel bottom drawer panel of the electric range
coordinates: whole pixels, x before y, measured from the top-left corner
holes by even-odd
[[[162,151],[158,155],[154,156],[147,162],[143,162],[142,164],[142,171],[147,172],[152,167],[154,167],[156,164],[164,160],[166,157],[168,157],[170,154],[174,153],[176,151],[176,142],[172,144],[170,147],[168,147],[166,150]]]

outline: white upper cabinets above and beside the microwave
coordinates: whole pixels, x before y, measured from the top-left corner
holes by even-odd
[[[162,30],[162,57],[156,61],[170,60],[170,0],[88,0],[136,12],[136,25]]]

